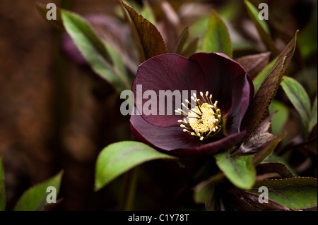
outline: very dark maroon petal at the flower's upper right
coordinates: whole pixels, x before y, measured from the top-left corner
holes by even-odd
[[[199,53],[190,57],[200,64],[213,101],[227,118],[226,132],[240,132],[240,123],[254,95],[251,78],[239,63],[222,53]]]

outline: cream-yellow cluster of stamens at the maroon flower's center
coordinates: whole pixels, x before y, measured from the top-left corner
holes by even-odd
[[[212,95],[208,96],[208,92],[206,92],[205,96],[203,92],[200,92],[200,95],[204,102],[198,99],[195,93],[191,97],[197,106],[194,106],[185,99],[185,102],[187,102],[188,106],[191,105],[192,109],[182,103],[182,106],[189,110],[187,113],[182,109],[175,111],[185,117],[184,120],[178,121],[182,123],[180,127],[184,128],[183,131],[199,137],[200,140],[204,140],[205,138],[216,135],[216,133],[221,130],[220,123],[222,115],[220,109],[216,107],[218,101],[213,104]]]

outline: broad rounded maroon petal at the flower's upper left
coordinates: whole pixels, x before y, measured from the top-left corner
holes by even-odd
[[[135,104],[141,111],[143,104],[148,102],[148,99],[142,99],[143,92],[153,90],[157,96],[157,114],[143,114],[143,118],[155,126],[172,126],[177,125],[177,120],[182,118],[179,114],[175,114],[175,102],[178,102],[181,107],[181,102],[184,100],[182,90],[188,91],[188,95],[184,98],[190,99],[191,90],[204,91],[203,82],[204,74],[196,62],[177,54],[163,54],[148,59],[139,66],[132,91]],[[137,85],[142,85],[142,91],[137,92]],[[160,90],[179,93],[179,97],[173,97],[172,104],[168,104],[165,99],[164,105],[159,105]],[[141,99],[142,104],[138,99]],[[165,110],[168,107],[172,109],[172,115],[167,115],[167,111],[165,111],[166,115],[159,115],[159,109],[163,107]]]

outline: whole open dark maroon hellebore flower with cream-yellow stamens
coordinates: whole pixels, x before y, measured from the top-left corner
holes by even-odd
[[[142,85],[142,90],[137,85]],[[195,91],[191,99],[196,104],[189,98],[173,98],[170,107],[182,101],[183,109],[174,109],[176,113],[172,115],[131,115],[131,132],[136,140],[168,154],[213,155],[237,145],[246,133],[241,121],[254,95],[254,86],[244,68],[225,54],[197,53],[189,59],[162,54],[148,59],[139,66],[132,86],[134,109],[139,112],[136,95],[147,90],[154,92],[157,99],[162,99],[163,90]],[[141,103],[147,101],[143,98]],[[169,104],[167,100],[165,104]]]

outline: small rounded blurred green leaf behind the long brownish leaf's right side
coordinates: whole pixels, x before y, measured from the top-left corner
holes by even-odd
[[[271,118],[271,133],[273,135],[278,135],[281,133],[283,126],[288,120],[289,110],[282,102],[273,100],[269,105],[269,113],[273,114],[274,111],[276,111],[276,114]]]

